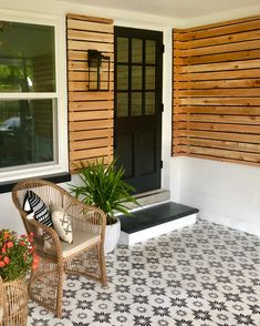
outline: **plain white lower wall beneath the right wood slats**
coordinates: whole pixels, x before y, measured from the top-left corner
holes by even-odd
[[[199,216],[260,235],[260,169],[219,161],[171,159],[173,200]]]

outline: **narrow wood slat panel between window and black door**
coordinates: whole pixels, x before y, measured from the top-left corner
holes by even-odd
[[[66,27],[70,169],[74,173],[80,161],[113,157],[114,22],[67,14]],[[110,91],[89,91],[89,49],[111,58]],[[107,72],[108,65],[102,69]]]

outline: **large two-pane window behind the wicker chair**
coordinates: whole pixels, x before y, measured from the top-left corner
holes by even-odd
[[[58,136],[66,119],[58,94],[56,26],[35,21],[0,21],[1,181],[21,171],[23,177],[40,176],[67,166],[66,133]]]

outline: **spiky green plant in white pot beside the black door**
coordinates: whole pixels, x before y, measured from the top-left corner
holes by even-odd
[[[124,169],[116,167],[116,160],[105,164],[104,159],[80,164],[82,185],[72,185],[72,193],[87,205],[100,207],[106,214],[105,253],[112,252],[121,232],[116,213],[129,214],[127,203],[138,205],[132,195],[134,187],[123,181]]]

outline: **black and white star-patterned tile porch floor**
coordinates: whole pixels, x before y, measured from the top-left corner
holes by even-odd
[[[31,326],[260,326],[260,238],[199,220],[106,257],[108,288],[69,276],[63,318]]]

